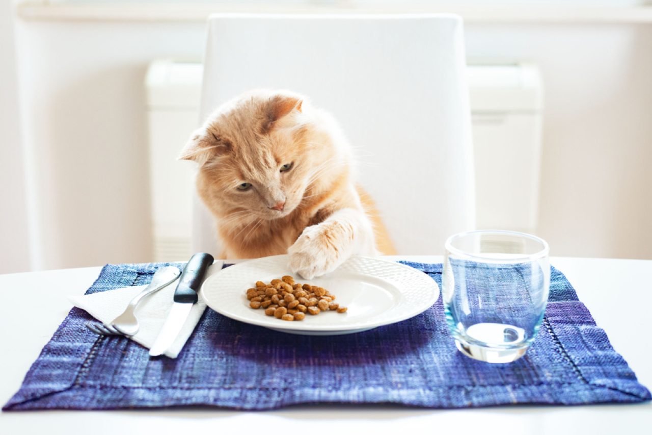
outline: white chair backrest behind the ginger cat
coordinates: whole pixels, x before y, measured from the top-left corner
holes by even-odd
[[[248,89],[302,93],[342,125],[398,253],[442,253],[473,229],[460,18],[218,14],[208,25],[201,120]],[[195,250],[217,252],[199,201],[193,230]]]

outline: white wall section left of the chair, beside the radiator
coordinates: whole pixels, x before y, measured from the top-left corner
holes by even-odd
[[[35,268],[149,261],[143,77],[159,57],[201,59],[203,26],[20,22],[16,37]]]

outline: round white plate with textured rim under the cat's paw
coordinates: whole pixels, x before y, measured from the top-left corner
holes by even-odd
[[[344,314],[306,314],[303,321],[283,321],[249,307],[246,290],[256,281],[291,275],[288,255],[245,261],[213,274],[201,286],[201,297],[216,312],[252,325],[306,335],[352,334],[409,319],[435,303],[439,286],[430,276],[406,265],[371,257],[351,257],[334,272],[296,282],[319,285],[336,295]]]

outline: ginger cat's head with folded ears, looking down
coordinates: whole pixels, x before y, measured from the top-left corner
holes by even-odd
[[[209,116],[179,156],[200,165],[209,208],[278,219],[299,205],[316,157],[306,106],[287,91],[250,91]]]

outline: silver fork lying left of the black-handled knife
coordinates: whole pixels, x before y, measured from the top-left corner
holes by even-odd
[[[86,323],[87,329],[100,335],[136,335],[139,329],[138,319],[136,319],[136,315],[134,314],[136,306],[138,306],[142,298],[145,296],[150,295],[177,280],[179,274],[181,274],[181,271],[174,266],[166,266],[156,270],[156,273],[152,277],[152,282],[129,301],[128,306],[121,315],[115,317],[113,321],[105,324]]]

